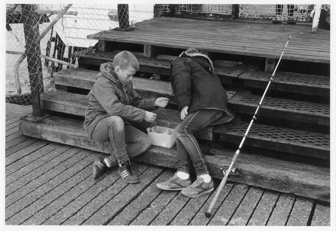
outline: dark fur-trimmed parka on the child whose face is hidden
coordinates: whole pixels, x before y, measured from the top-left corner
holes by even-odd
[[[188,113],[199,109],[222,110],[223,116],[212,124],[226,123],[235,115],[227,109],[226,92],[212,71],[208,56],[182,52],[171,64],[171,86],[180,110],[184,106],[189,106]]]

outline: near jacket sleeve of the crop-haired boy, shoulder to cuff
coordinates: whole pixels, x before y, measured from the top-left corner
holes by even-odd
[[[106,110],[109,116],[119,116],[125,121],[141,123],[145,111],[131,105],[121,103],[116,96],[115,88],[109,81],[96,81],[94,84],[94,97]]]

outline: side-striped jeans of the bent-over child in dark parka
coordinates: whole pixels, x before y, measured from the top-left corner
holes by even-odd
[[[175,128],[177,144],[177,171],[190,174],[190,161],[193,162],[196,175],[209,174],[209,170],[194,133],[208,126],[223,114],[221,110],[200,109],[188,114]]]

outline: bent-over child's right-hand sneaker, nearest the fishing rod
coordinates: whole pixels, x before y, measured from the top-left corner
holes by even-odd
[[[198,176],[196,181],[190,186],[186,187],[181,193],[188,197],[198,197],[213,191],[213,181],[204,182],[203,178]]]

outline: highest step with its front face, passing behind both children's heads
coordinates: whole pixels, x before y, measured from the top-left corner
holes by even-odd
[[[101,63],[112,62],[116,52],[95,51],[92,53],[83,50],[81,52],[75,52],[72,55],[78,57],[78,62],[80,63],[100,65]],[[170,75],[170,64],[172,60],[140,55],[135,55],[135,57],[139,62],[139,71],[159,75]],[[222,84],[232,83],[232,78],[238,78],[244,71],[244,68],[214,66],[214,73],[218,75]]]

